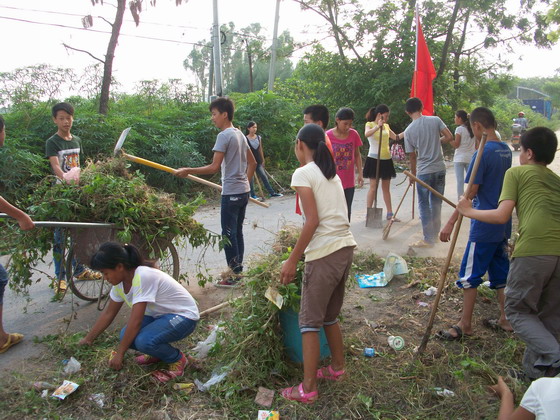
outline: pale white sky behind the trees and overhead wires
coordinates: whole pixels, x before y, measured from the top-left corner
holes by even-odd
[[[148,3],[147,1],[145,3]],[[240,29],[253,22],[264,28],[272,42],[275,0],[218,0],[220,24],[233,21]],[[103,58],[109,40],[109,26],[99,16],[112,21],[115,8],[111,0],[92,6],[91,0],[0,0],[0,39],[2,59],[0,72],[19,67],[50,64],[78,71],[96,61],[84,53],[66,49],[87,50]],[[157,6],[146,4],[135,26],[127,10],[114,61],[114,76],[124,90],[140,80],[183,79],[193,82],[193,75],[183,68],[183,60],[193,43],[210,39],[212,0],[158,0]],[[94,25],[82,29],[81,17],[91,14]],[[279,33],[288,29],[299,42],[310,42],[327,35],[326,21],[310,11],[301,11],[290,0],[280,3]],[[295,60],[311,46],[295,53]],[[560,69],[560,45],[552,50],[520,46],[515,55],[502,54],[513,64],[512,73],[520,77],[547,77]]]

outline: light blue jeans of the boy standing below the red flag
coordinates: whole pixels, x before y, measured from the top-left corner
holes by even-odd
[[[418,178],[443,195],[445,190],[445,171],[418,175]],[[424,240],[435,243],[441,228],[441,199],[437,198],[427,188],[417,185],[418,209],[422,221]]]

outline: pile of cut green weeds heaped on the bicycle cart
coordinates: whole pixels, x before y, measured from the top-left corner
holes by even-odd
[[[45,178],[27,198],[27,210],[34,220],[114,223],[122,242],[142,242],[153,247],[158,239],[186,238],[193,247],[219,240],[192,216],[203,199],[187,204],[175,201],[146,184],[144,176],[129,173],[126,161],[88,161],[79,184]],[[31,284],[34,262],[42,260],[52,247],[51,229],[37,228],[8,235],[2,251],[12,254],[12,287],[25,291]]]

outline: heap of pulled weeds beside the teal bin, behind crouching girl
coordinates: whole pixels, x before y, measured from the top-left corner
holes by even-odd
[[[299,231],[286,227],[276,237],[272,253],[255,261],[245,274],[244,293],[232,302],[231,315],[221,321],[223,329],[210,355],[214,370],[229,370],[220,386],[213,388],[226,396],[255,386],[270,386],[290,370],[284,357],[278,307],[265,297],[272,287],[283,296],[282,309],[299,311],[303,261],[296,279],[281,285],[280,269],[297,241]]]

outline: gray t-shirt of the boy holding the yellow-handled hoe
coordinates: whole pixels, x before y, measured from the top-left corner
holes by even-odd
[[[230,127],[218,134],[212,151],[224,153],[222,161],[222,195],[243,194],[250,191],[247,179],[247,150],[245,136]]]

